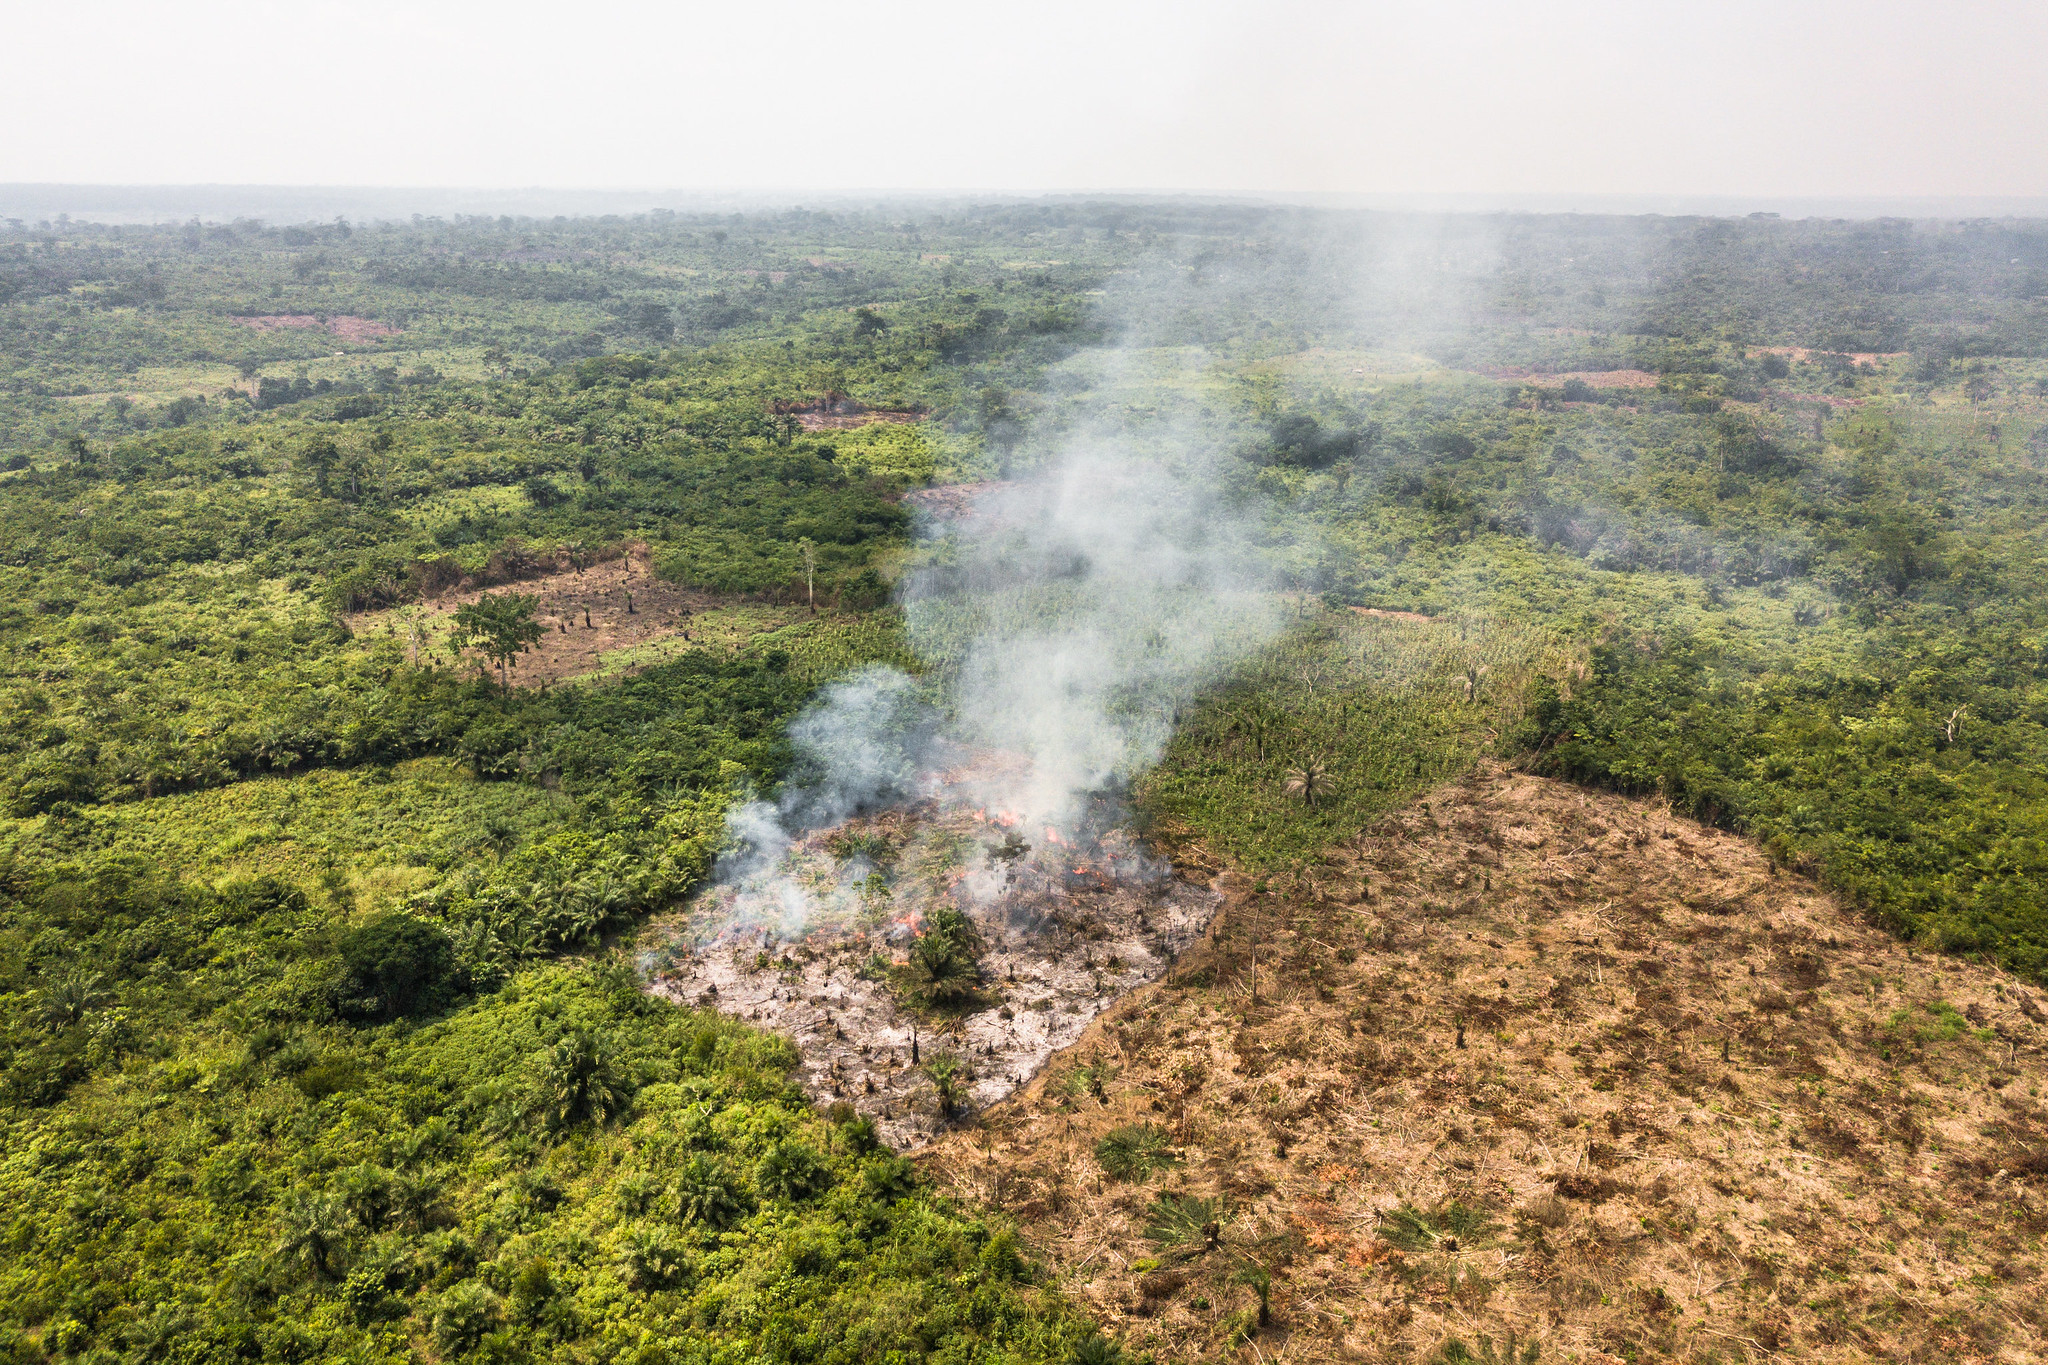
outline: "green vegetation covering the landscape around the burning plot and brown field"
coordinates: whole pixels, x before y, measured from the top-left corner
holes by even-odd
[[[1276,870],[1497,751],[2048,976],[2044,272],[1200,205],[0,233],[6,1359],[1069,1357],[997,1220],[604,945],[821,681],[915,667],[899,495],[1104,411],[1229,432],[1294,614],[1147,819]],[[1159,364],[1065,362],[1112,338]],[[627,542],[731,628],[545,690],[358,630]]]

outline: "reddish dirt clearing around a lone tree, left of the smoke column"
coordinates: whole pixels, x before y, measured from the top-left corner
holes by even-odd
[[[614,649],[672,636],[686,636],[694,645],[700,630],[692,628],[692,620],[700,612],[731,606],[713,593],[657,579],[649,567],[647,546],[635,546],[623,559],[580,571],[547,573],[494,587],[449,589],[428,598],[422,604],[422,651],[430,661],[440,665],[455,661],[449,649],[455,608],[475,602],[483,593],[535,593],[541,598],[539,620],[547,632],[508,671],[516,688],[594,673],[598,657]],[[397,612],[362,612],[350,618],[350,628],[358,634],[375,632],[410,641],[410,630]],[[463,667],[477,665],[465,661]]]

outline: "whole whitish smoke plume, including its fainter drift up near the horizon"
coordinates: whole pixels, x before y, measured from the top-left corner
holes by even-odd
[[[1110,282],[1102,321],[1122,338],[1040,387],[1040,444],[967,516],[928,520],[899,587],[911,679],[864,669],[825,688],[795,724],[799,778],[729,819],[719,876],[729,923],[801,933],[848,909],[868,872],[836,886],[793,878],[805,833],[932,800],[1071,827],[1151,767],[1180,710],[1282,624],[1266,495],[1237,456],[1262,438],[1255,405],[1227,395],[1204,342],[1294,317],[1313,338],[1464,332],[1501,264],[1497,229],[1460,219],[1268,221],[1264,244],[1221,258],[1171,244]],[[1270,415],[1270,413],[1268,413]],[[1022,473],[1020,473],[1022,471]],[[985,878],[967,878],[973,896]]]

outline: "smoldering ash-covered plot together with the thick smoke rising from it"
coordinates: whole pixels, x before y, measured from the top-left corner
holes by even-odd
[[[811,1089],[899,1144],[1026,1081],[1202,931],[1214,896],[1139,845],[1124,798],[1282,624],[1221,477],[1241,432],[1108,401],[1155,393],[1155,364],[1073,370],[1092,411],[926,522],[899,598],[928,671],[823,690],[793,780],[729,814],[717,884],[651,962],[659,990],[788,1031]]]

